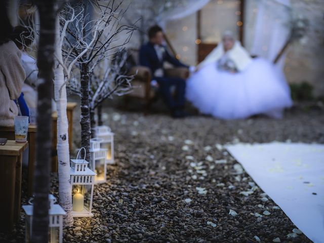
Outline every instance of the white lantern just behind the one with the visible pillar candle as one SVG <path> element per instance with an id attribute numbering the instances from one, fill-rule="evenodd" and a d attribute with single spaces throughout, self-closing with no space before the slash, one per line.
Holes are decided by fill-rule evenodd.
<path id="1" fill-rule="evenodd" d="M 106 182 L 106 154 L 107 149 L 100 148 L 101 138 L 90 139 L 90 169 L 97 173 L 95 176 L 95 183 Z"/>

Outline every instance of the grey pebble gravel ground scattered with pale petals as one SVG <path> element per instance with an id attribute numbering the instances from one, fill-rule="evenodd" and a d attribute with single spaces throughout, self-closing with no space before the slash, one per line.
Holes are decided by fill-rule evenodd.
<path id="1" fill-rule="evenodd" d="M 108 182 L 95 186 L 95 217 L 75 219 L 73 227 L 64 229 L 64 242 L 272 242 L 277 237 L 281 242 L 311 242 L 303 234 L 288 238 L 297 227 L 271 198 L 262 200 L 263 191 L 217 144 L 324 143 L 322 106 L 299 104 L 282 120 L 172 119 L 159 112 L 143 116 L 116 108 L 104 112 L 105 125 L 115 132 L 117 164 L 108 167 Z M 55 175 L 52 183 L 55 191 Z M 249 196 L 239 193 L 252 188 Z M 23 194 L 24 203 L 26 199 Z M 23 220 L 22 214 L 13 233 L 0 234 L 0 241 L 22 242 Z"/>

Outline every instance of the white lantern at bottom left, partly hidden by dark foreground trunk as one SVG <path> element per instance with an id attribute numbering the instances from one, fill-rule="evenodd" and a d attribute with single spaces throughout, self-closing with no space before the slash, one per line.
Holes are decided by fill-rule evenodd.
<path id="1" fill-rule="evenodd" d="M 49 224 L 49 242 L 50 243 L 62 243 L 63 242 L 63 216 L 65 211 L 62 207 L 56 203 L 56 198 L 52 194 L 49 195 L 50 200 L 50 224 Z M 30 203 L 30 201 L 29 201 Z M 31 203 L 30 203 L 31 204 Z M 33 205 L 24 205 L 22 209 L 26 214 L 26 242 L 31 240 L 32 232 L 32 211 Z"/>

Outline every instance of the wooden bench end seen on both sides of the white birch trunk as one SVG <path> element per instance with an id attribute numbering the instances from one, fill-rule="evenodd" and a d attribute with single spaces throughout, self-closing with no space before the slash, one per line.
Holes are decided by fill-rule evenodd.
<path id="1" fill-rule="evenodd" d="M 77 103 L 75 102 L 67 102 L 66 105 L 66 114 L 67 114 L 67 120 L 68 120 L 68 134 L 69 134 L 69 149 L 72 150 L 72 134 L 73 134 L 73 110 Z M 56 150 L 56 144 L 57 144 L 57 113 L 56 111 L 52 113 L 52 147 L 53 151 Z M 55 156 L 52 156 L 52 172 L 58 171 L 58 161 L 57 161 L 57 152 Z"/>

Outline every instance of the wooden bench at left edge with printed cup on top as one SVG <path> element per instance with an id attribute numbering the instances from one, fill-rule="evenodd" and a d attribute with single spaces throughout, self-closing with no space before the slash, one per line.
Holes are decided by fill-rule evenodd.
<path id="1" fill-rule="evenodd" d="M 8 140 L 0 145 L 0 231 L 11 230 L 20 219 L 22 154 L 28 142 Z"/>

